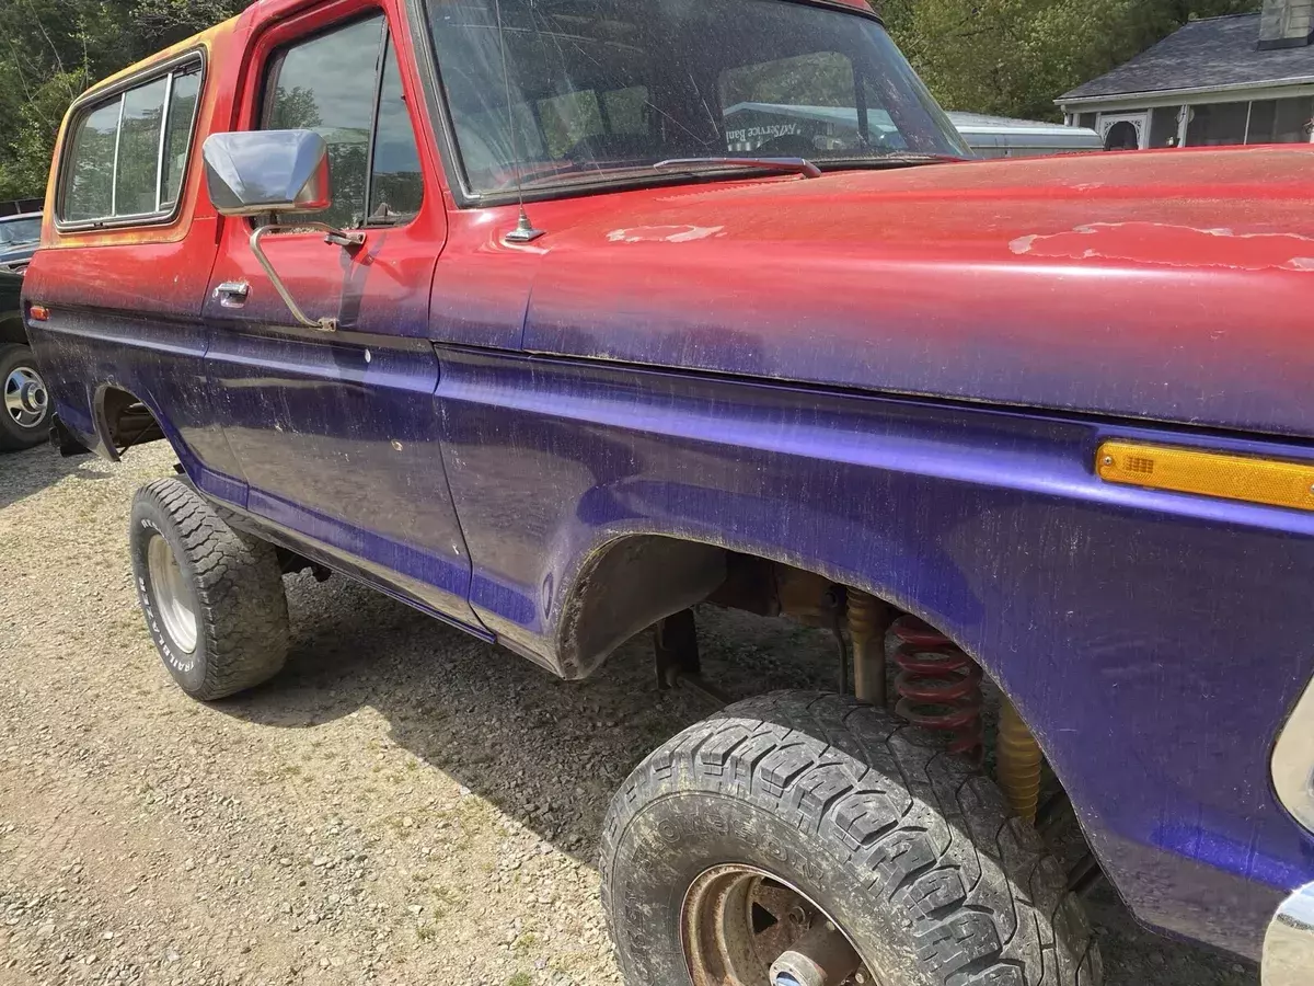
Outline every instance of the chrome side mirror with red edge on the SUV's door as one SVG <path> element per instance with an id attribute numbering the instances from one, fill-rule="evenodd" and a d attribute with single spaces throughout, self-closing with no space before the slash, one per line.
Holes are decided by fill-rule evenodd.
<path id="1" fill-rule="evenodd" d="M 210 134 L 201 155 L 221 216 L 319 212 L 332 204 L 328 145 L 314 130 Z"/>

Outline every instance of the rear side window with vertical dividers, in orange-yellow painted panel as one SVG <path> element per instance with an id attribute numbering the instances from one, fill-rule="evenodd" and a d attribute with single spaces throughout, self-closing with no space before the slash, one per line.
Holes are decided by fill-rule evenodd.
<path id="1" fill-rule="evenodd" d="M 201 91 L 201 63 L 134 85 L 79 114 L 66 151 L 62 222 L 167 218 L 177 202 Z"/>

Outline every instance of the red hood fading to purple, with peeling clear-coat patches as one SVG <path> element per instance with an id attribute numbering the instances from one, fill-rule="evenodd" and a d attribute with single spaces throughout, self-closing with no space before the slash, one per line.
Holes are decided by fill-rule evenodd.
<path id="1" fill-rule="evenodd" d="M 1314 435 L 1314 147 L 532 206 L 540 352 Z"/>

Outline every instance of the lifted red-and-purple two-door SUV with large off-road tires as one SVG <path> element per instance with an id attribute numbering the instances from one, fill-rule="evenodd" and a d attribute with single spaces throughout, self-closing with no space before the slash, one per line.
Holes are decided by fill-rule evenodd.
<path id="1" fill-rule="evenodd" d="M 836 634 L 616 795 L 632 986 L 1095 986 L 1101 868 L 1309 982 L 1314 149 L 967 155 L 859 0 L 264 0 L 75 103 L 24 304 L 67 451 L 177 454 L 129 551 L 198 699 L 311 564 L 570 680 Z"/>

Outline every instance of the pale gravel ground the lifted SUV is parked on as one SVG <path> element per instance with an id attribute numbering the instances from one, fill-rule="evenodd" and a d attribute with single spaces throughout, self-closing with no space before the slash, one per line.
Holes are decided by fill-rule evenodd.
<path id="1" fill-rule="evenodd" d="M 171 463 L 0 456 L 0 983 L 619 982 L 602 815 L 707 706 L 658 694 L 637 643 L 569 685 L 307 576 L 286 580 L 286 672 L 194 703 L 125 551 L 133 490 Z M 807 660 L 824 636 L 699 622 L 732 693 L 827 684 Z M 1257 982 L 1141 931 L 1108 887 L 1088 907 L 1109 986 Z"/>

